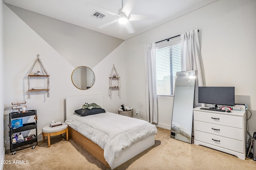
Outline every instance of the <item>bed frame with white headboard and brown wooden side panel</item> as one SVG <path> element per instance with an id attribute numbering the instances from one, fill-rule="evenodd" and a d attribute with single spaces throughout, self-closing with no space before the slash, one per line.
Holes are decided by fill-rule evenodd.
<path id="1" fill-rule="evenodd" d="M 79 109 L 83 103 L 96 103 L 103 107 L 103 96 L 102 95 L 90 95 L 90 96 L 72 96 L 66 97 L 66 117 L 74 114 L 74 110 Z M 104 107 L 103 107 L 104 108 Z M 108 168 L 114 169 L 122 163 L 126 162 L 130 158 L 136 156 L 140 152 L 148 149 L 149 147 L 155 144 L 154 135 L 138 141 L 132 146 L 122 150 L 122 153 L 115 158 L 112 165 L 109 165 L 104 158 L 104 150 L 99 147 L 96 143 L 92 142 L 90 139 L 84 137 L 84 135 L 80 134 L 78 131 L 68 127 L 68 135 L 74 141 L 76 141 L 79 145 L 81 145 L 84 149 L 90 152 L 93 156 L 95 156 L 100 162 L 104 165 L 108 166 Z"/>

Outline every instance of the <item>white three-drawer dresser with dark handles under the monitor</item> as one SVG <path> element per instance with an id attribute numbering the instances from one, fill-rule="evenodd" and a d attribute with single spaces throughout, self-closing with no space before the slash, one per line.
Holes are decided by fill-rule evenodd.
<path id="1" fill-rule="evenodd" d="M 233 154 L 245 160 L 245 111 L 232 110 L 227 113 L 200 108 L 193 109 L 194 144 Z"/>

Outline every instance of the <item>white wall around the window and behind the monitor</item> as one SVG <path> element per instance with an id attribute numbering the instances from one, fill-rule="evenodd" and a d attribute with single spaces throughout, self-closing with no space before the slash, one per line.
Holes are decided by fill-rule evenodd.
<path id="1" fill-rule="evenodd" d="M 235 86 L 235 102 L 248 104 L 252 111 L 248 121 L 252 135 L 256 131 L 255 9 L 255 0 L 218 0 L 126 40 L 127 103 L 142 109 L 142 116 L 146 117 L 144 45 L 197 28 L 204 84 Z M 170 123 L 166 120 L 172 117 L 172 99 L 167 105 L 166 98 L 158 97 L 160 127 L 166 127 Z"/>

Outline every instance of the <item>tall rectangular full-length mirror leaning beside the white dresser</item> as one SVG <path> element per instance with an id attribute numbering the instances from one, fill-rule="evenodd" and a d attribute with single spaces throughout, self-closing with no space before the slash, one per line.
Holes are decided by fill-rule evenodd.
<path id="1" fill-rule="evenodd" d="M 172 110 L 171 138 L 192 142 L 196 71 L 177 72 Z"/>

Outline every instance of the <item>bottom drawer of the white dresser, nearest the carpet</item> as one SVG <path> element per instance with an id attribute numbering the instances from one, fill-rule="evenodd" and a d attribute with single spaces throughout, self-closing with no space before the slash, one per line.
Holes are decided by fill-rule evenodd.
<path id="1" fill-rule="evenodd" d="M 194 131 L 194 140 L 222 147 L 225 149 L 233 150 L 236 152 L 244 153 L 244 142 L 226 137 Z"/>

